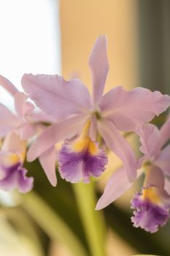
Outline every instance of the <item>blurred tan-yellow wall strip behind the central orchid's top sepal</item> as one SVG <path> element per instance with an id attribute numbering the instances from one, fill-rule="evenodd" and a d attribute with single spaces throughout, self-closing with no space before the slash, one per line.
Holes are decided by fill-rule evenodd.
<path id="1" fill-rule="evenodd" d="M 88 57 L 100 34 L 108 37 L 107 89 L 139 85 L 136 0 L 61 0 L 62 70 L 90 88 Z"/>

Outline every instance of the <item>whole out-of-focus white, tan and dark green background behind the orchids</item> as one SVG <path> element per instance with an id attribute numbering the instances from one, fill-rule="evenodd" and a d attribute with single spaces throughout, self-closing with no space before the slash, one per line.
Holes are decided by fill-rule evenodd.
<path id="1" fill-rule="evenodd" d="M 170 94 L 169 0 L 0 0 L 0 73 L 20 90 L 25 72 L 79 77 L 91 90 L 88 58 L 100 34 L 108 37 L 106 91 L 123 85 L 125 89 L 144 86 Z M 13 108 L 12 98 L 3 89 L 0 102 Z M 95 184 L 96 198 L 121 164 L 113 154 L 109 159 L 107 172 Z M 92 210 L 94 198 L 91 218 L 85 222 L 75 196 L 79 187 L 58 177 L 58 186 L 53 188 L 39 162 L 26 163 L 26 167 L 35 178 L 34 192 L 24 197 L 0 192 L 0 255 L 95 256 L 88 239 L 97 246 L 97 225 L 104 222 L 101 243 L 106 255 L 170 255 L 170 225 L 152 235 L 131 225 L 130 200 L 140 184 L 99 217 Z M 95 218 L 96 233 L 94 230 L 90 236 L 84 226 L 93 225 Z M 80 246 L 81 253 L 73 252 L 73 246 Z"/>

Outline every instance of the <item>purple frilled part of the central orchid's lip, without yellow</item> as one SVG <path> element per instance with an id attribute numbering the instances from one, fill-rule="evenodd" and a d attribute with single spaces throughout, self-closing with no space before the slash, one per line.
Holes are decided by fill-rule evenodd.
<path id="1" fill-rule="evenodd" d="M 69 144 L 63 143 L 58 153 L 59 173 L 62 178 L 72 183 L 88 183 L 90 176 L 101 176 L 107 162 L 107 156 L 101 148 L 97 155 L 92 155 L 88 151 L 72 152 Z"/>

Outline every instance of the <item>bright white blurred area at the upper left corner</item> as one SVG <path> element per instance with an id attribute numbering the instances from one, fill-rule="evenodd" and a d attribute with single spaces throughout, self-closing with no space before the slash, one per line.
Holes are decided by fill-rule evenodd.
<path id="1" fill-rule="evenodd" d="M 0 74 L 22 90 L 23 73 L 61 74 L 57 0 L 0 0 Z M 0 86 L 0 102 L 12 98 Z"/>

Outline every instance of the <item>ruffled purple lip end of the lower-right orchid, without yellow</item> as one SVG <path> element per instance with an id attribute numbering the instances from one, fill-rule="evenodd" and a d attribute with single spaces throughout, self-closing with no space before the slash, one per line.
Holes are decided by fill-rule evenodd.
<path id="1" fill-rule="evenodd" d="M 141 199 L 142 193 L 136 193 L 131 200 L 131 208 L 136 209 L 131 221 L 134 227 L 141 227 L 147 232 L 155 233 L 159 227 L 169 221 L 169 207 L 158 206 L 149 199 Z"/>

